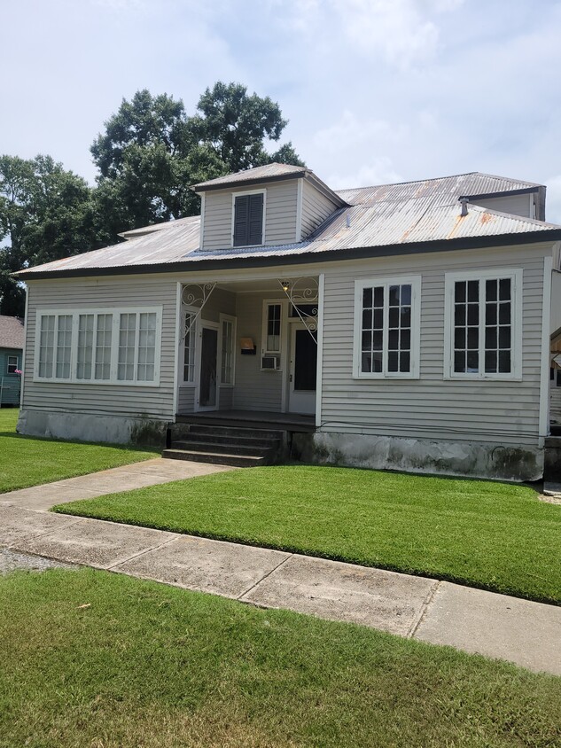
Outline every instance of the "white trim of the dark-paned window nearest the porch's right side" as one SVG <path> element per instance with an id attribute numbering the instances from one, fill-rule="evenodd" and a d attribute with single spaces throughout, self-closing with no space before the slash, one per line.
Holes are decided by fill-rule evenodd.
<path id="1" fill-rule="evenodd" d="M 382 347 L 383 370 L 362 371 L 362 292 L 365 288 L 391 285 L 411 286 L 411 349 L 410 371 L 387 371 L 387 320 L 384 320 L 384 343 Z M 386 294 L 385 294 L 386 298 Z M 385 307 L 386 309 L 386 307 Z M 420 378 L 421 349 L 421 276 L 397 276 L 360 278 L 355 280 L 355 329 L 353 342 L 354 379 L 418 379 Z"/>

